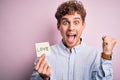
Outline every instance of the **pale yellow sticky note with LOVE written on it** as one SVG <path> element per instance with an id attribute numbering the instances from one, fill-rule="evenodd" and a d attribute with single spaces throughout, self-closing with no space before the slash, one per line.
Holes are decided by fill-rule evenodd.
<path id="1" fill-rule="evenodd" d="M 37 57 L 40 57 L 42 54 L 46 56 L 50 55 L 50 45 L 49 42 L 35 43 Z"/>

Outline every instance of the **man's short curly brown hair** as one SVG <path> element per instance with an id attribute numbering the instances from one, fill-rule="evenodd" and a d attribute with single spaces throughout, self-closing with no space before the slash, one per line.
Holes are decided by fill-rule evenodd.
<path id="1" fill-rule="evenodd" d="M 84 9 L 84 6 L 82 2 L 76 1 L 76 0 L 70 0 L 62 3 L 55 13 L 55 17 L 57 19 L 57 22 L 60 23 L 61 18 L 65 16 L 66 14 L 72 15 L 75 12 L 80 14 L 82 21 L 85 21 L 86 17 L 86 10 Z"/>

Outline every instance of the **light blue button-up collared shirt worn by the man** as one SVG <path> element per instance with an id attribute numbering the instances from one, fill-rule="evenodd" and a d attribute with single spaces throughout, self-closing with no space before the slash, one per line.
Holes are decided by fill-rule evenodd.
<path id="1" fill-rule="evenodd" d="M 71 52 L 62 41 L 51 46 L 46 57 L 51 66 L 50 80 L 112 80 L 112 62 L 101 58 L 101 52 L 83 42 Z M 31 80 L 42 80 L 33 71 Z"/>

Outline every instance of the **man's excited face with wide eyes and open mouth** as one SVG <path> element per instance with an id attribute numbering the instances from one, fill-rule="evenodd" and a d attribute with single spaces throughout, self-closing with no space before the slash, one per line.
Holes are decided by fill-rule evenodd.
<path id="1" fill-rule="evenodd" d="M 80 36 L 85 27 L 79 14 L 65 15 L 62 17 L 58 30 L 60 31 L 63 42 L 68 48 L 72 48 L 80 44 Z"/>

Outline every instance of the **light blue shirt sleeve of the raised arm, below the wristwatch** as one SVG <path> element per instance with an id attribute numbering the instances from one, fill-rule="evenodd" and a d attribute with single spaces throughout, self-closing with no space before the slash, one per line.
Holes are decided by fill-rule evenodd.
<path id="1" fill-rule="evenodd" d="M 92 68 L 92 80 L 112 80 L 112 60 L 105 60 L 101 58 L 101 54 L 96 57 L 94 66 Z"/>

